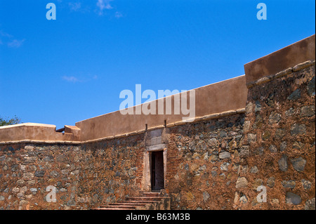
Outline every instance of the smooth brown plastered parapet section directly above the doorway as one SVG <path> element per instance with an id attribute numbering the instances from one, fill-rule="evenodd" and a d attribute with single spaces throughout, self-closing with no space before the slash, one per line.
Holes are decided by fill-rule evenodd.
<path id="1" fill-rule="evenodd" d="M 246 106 L 247 89 L 244 76 L 196 88 L 194 91 L 195 105 L 190 105 L 190 96 L 188 92 L 176 95 L 187 94 L 187 108 L 195 107 L 193 109 L 195 110 L 196 119 L 209 114 L 244 109 Z M 145 131 L 146 124 L 147 129 L 150 130 L 155 127 L 161 128 L 164 127 L 164 125 L 169 126 L 175 122 L 181 122 L 187 119 L 186 117 L 188 117 L 188 114 L 183 114 L 182 110 L 180 110 L 180 114 L 174 113 L 174 99 L 176 95 L 164 98 L 164 108 L 166 108 L 166 101 L 171 99 L 172 114 L 158 114 L 159 100 L 154 100 L 154 104 L 156 105 L 155 114 L 145 115 L 142 113 L 123 115 L 121 112 L 116 111 L 99 117 L 79 121 L 76 123 L 76 126 L 81 130 L 81 140 L 95 140 L 131 132 L 136 133 L 137 131 Z M 143 105 L 138 105 L 136 107 L 141 106 Z M 138 110 L 136 107 L 133 107 L 134 112 Z"/>

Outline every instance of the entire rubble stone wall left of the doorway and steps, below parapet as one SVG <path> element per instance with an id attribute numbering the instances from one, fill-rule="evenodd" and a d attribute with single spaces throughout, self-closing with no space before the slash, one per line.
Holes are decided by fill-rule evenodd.
<path id="1" fill-rule="evenodd" d="M 138 195 L 142 135 L 87 145 L 0 146 L 0 209 L 89 209 Z M 46 187 L 56 187 L 47 202 Z"/>

